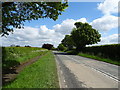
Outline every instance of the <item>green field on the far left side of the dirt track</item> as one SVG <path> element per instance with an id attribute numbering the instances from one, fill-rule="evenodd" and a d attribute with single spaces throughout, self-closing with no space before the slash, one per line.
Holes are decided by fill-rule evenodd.
<path id="1" fill-rule="evenodd" d="M 38 51 L 39 50 L 39 51 Z M 36 56 L 44 55 L 47 51 L 35 47 L 3 47 L 2 48 L 2 67 L 8 69 L 26 62 Z"/>

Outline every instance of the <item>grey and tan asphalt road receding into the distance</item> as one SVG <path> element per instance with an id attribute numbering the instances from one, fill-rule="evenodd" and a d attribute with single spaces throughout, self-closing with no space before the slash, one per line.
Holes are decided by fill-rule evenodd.
<path id="1" fill-rule="evenodd" d="M 118 88 L 118 66 L 53 51 L 60 88 Z"/>

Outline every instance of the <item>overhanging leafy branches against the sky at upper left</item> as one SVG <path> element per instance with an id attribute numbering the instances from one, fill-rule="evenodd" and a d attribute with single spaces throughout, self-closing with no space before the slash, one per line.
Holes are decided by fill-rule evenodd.
<path id="1" fill-rule="evenodd" d="M 13 28 L 22 28 L 26 20 L 56 20 L 67 7 L 67 2 L 2 2 L 1 34 L 9 35 Z"/>

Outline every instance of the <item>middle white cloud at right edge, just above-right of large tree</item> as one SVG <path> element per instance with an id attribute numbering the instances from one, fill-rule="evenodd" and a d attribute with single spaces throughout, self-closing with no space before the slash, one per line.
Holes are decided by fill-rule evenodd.
<path id="1" fill-rule="evenodd" d="M 108 31 L 118 27 L 118 17 L 113 15 L 105 15 L 101 18 L 93 20 L 90 24 L 93 28 L 99 31 Z"/>

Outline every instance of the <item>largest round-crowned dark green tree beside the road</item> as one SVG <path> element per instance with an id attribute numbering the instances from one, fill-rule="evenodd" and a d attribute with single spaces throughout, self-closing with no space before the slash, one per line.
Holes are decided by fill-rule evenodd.
<path id="1" fill-rule="evenodd" d="M 76 28 L 72 30 L 71 37 L 77 50 L 82 50 L 86 45 L 100 42 L 101 35 L 88 23 L 76 22 L 74 25 Z"/>

